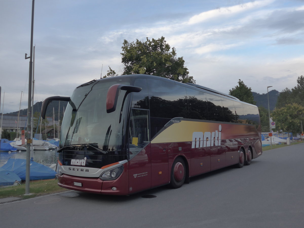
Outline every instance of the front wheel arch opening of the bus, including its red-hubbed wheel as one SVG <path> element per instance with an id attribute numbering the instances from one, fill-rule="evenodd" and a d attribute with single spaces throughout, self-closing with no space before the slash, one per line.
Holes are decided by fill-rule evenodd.
<path id="1" fill-rule="evenodd" d="M 187 182 L 187 176 L 189 178 L 188 170 L 188 163 L 185 161 L 184 157 L 178 156 L 175 158 L 171 167 L 170 187 L 180 188 L 185 182 Z"/>

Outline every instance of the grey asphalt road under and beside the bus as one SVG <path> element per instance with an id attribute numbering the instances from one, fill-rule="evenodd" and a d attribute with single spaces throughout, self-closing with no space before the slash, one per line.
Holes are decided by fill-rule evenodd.
<path id="1" fill-rule="evenodd" d="M 0 205 L 0 227 L 304 227 L 304 143 L 130 196 L 65 192 Z M 143 198 L 143 196 L 155 196 Z"/>

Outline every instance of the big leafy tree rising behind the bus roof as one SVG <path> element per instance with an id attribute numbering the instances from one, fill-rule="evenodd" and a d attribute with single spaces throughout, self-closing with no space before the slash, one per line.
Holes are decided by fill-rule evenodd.
<path id="1" fill-rule="evenodd" d="M 123 74 L 150 74 L 169 78 L 175 81 L 195 83 L 189 76 L 188 68 L 184 66 L 183 57 L 176 57 L 176 50 L 165 41 L 165 38 L 147 40 L 142 42 L 128 42 L 124 40 L 122 63 Z"/>

